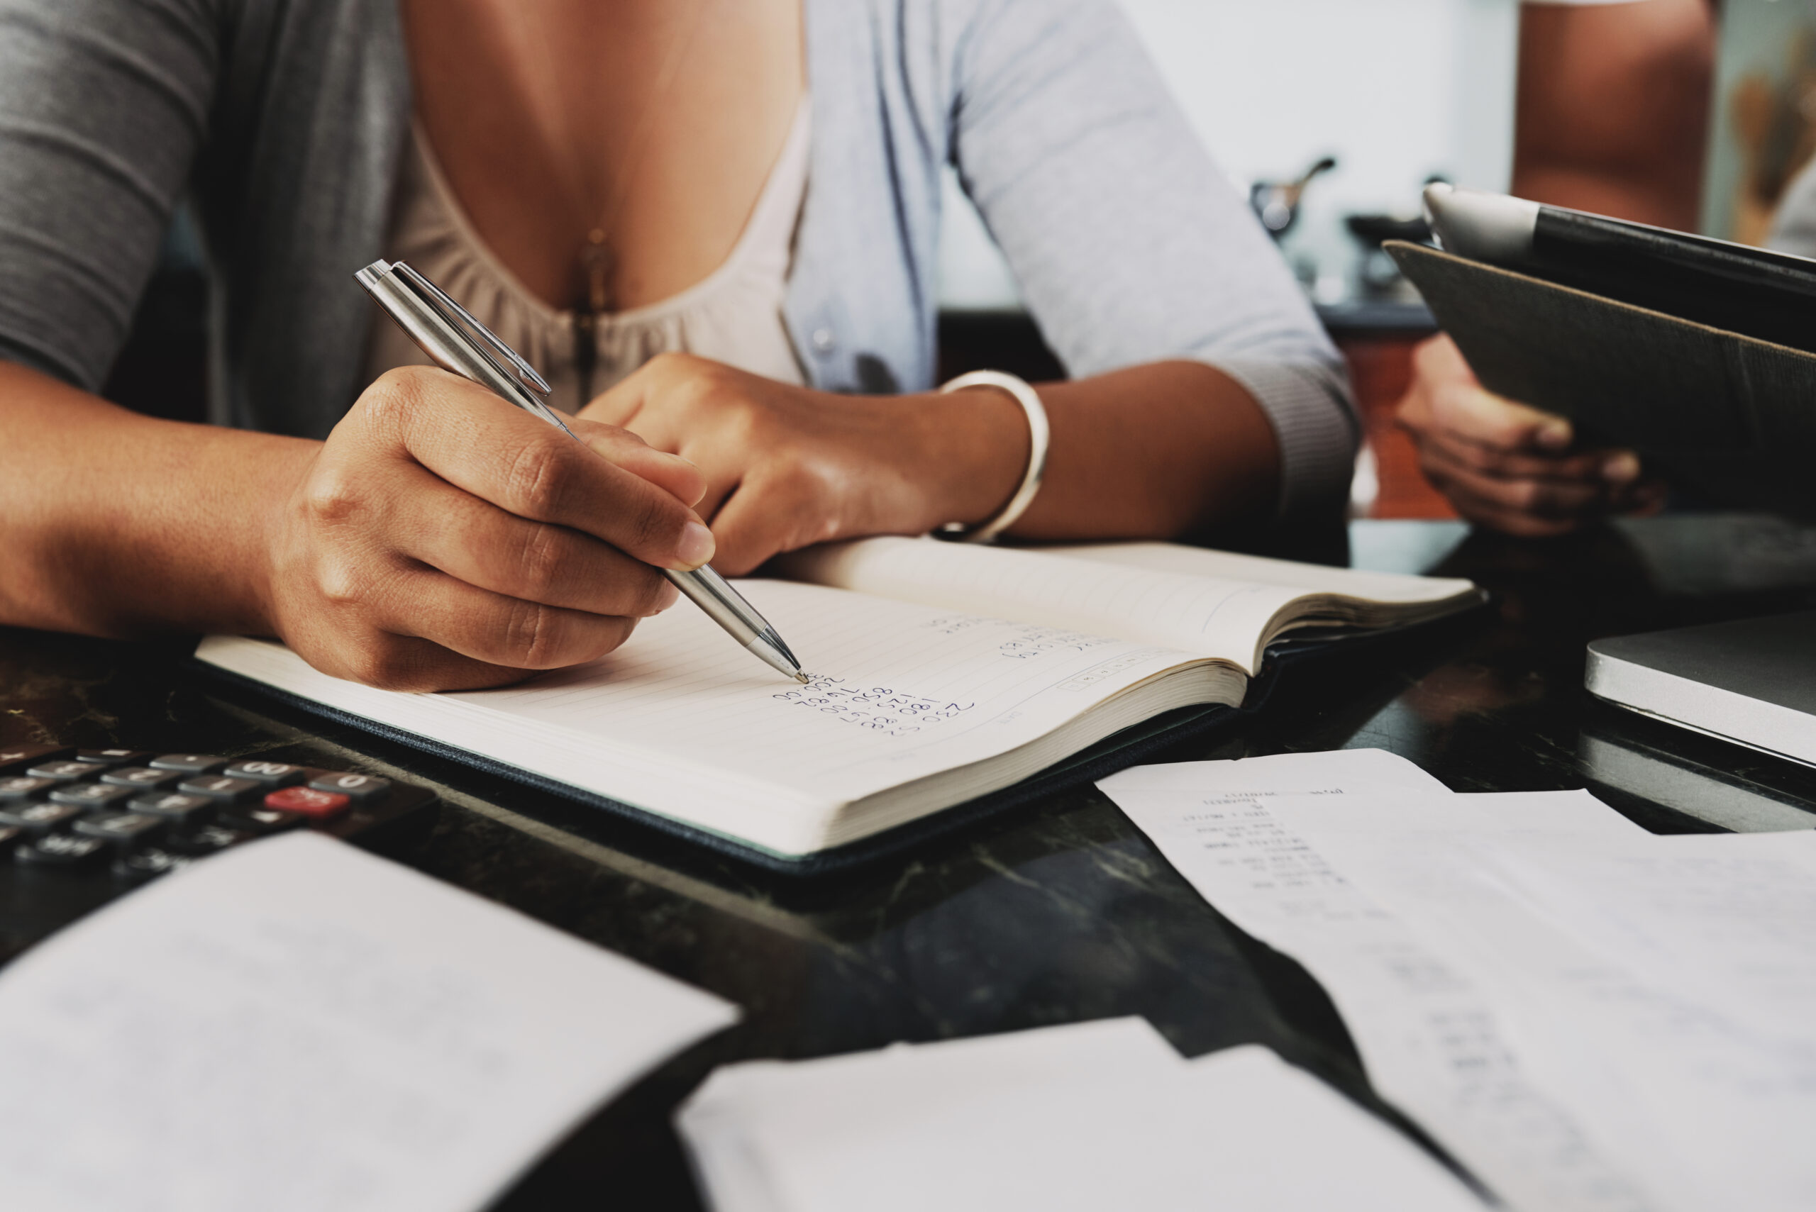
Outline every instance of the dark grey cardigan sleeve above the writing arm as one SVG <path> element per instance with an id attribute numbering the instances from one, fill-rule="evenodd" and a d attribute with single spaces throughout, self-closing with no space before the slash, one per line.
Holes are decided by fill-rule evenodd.
<path id="1" fill-rule="evenodd" d="M 98 390 L 207 129 L 211 0 L 0 0 L 0 357 Z"/>

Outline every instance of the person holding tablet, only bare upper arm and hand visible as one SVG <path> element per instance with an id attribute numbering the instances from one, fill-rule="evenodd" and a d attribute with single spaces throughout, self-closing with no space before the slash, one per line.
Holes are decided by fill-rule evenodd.
<path id="1" fill-rule="evenodd" d="M 1511 192 L 1696 229 L 1709 123 L 1709 0 L 1525 0 Z M 1656 510 L 1665 486 L 1631 450 L 1576 450 L 1571 423 L 1482 388 L 1446 336 L 1413 352 L 1398 423 L 1466 519 L 1556 535 Z"/>

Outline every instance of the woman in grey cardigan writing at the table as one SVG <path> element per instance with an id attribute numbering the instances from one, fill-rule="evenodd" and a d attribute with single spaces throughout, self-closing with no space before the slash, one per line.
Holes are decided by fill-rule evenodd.
<path id="1" fill-rule="evenodd" d="M 944 163 L 1066 383 L 933 381 Z M 94 396 L 173 205 L 220 426 Z M 407 259 L 574 443 L 419 368 Z M 596 659 L 864 533 L 1335 526 L 1335 350 L 1111 0 L 0 0 L 0 622 L 276 635 L 372 684 Z"/>

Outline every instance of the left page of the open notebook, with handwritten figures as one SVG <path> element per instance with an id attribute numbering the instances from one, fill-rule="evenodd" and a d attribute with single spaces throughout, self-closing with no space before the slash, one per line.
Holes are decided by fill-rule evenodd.
<path id="1" fill-rule="evenodd" d="M 781 853 L 819 849 L 843 804 L 1008 753 L 1193 660 L 810 584 L 739 588 L 812 684 L 766 670 L 686 604 L 605 660 L 492 691 L 370 689 L 262 640 L 216 637 L 198 657 Z M 1222 699 L 1202 693 L 1219 680 Z M 1240 693 L 1240 679 L 1206 673 L 1193 700 Z"/>

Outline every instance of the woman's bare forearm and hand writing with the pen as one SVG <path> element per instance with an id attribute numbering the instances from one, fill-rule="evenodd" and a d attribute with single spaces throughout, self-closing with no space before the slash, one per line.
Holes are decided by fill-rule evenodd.
<path id="1" fill-rule="evenodd" d="M 138 417 L 0 363 L 0 622 L 278 635 L 318 668 L 496 686 L 590 660 L 712 537 L 699 474 L 585 445 L 439 370 L 392 372 L 325 443 Z"/>

